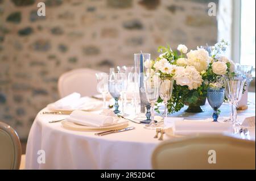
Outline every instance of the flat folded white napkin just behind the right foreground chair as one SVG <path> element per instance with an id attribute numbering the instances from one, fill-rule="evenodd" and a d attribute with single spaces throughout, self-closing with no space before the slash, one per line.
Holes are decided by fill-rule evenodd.
<path id="1" fill-rule="evenodd" d="M 202 121 L 175 121 L 172 130 L 174 134 L 216 134 L 216 133 L 232 133 L 232 124 L 218 122 L 202 122 Z"/>

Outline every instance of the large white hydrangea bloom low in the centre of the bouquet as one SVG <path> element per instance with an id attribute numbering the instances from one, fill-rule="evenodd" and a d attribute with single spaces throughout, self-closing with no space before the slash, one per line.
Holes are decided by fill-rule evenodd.
<path id="1" fill-rule="evenodd" d="M 177 66 L 174 79 L 177 85 L 188 86 L 189 90 L 197 89 L 203 83 L 203 79 L 193 66 Z"/>

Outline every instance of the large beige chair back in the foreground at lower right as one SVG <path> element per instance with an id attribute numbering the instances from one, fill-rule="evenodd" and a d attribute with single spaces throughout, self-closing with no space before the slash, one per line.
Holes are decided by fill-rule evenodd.
<path id="1" fill-rule="evenodd" d="M 152 168 L 255 169 L 255 141 L 226 136 L 164 141 L 152 154 Z"/>

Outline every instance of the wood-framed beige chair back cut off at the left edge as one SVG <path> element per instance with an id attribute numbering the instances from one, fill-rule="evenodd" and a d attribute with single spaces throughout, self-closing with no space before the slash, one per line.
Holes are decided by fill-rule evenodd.
<path id="1" fill-rule="evenodd" d="M 0 122 L 0 170 L 19 169 L 21 155 L 18 135 L 9 125 Z"/>

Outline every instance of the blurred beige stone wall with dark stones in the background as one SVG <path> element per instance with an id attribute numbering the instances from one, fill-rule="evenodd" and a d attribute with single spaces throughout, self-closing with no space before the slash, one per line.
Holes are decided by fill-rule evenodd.
<path id="1" fill-rule="evenodd" d="M 36 15 L 46 3 L 46 17 Z M 65 71 L 108 71 L 159 45 L 217 41 L 205 0 L 0 0 L 0 120 L 26 138 Z"/>

